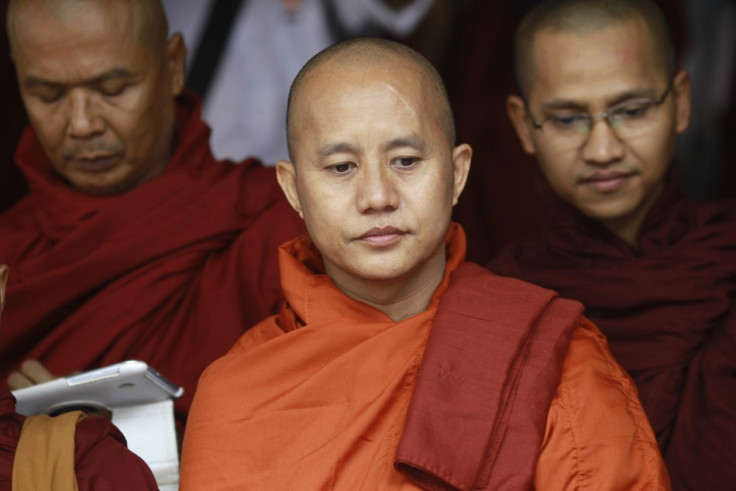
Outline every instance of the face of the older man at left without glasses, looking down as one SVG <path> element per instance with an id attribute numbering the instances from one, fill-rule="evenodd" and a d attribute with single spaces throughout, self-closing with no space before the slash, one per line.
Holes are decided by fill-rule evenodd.
<path id="1" fill-rule="evenodd" d="M 90 194 L 159 175 L 173 140 L 185 48 L 142 42 L 126 2 L 17 16 L 13 57 L 31 124 L 56 171 Z"/>

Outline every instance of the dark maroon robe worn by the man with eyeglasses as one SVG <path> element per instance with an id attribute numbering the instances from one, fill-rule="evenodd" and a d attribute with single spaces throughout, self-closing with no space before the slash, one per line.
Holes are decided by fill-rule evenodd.
<path id="1" fill-rule="evenodd" d="M 733 489 L 736 205 L 694 203 L 669 176 L 636 251 L 541 189 L 543 242 L 490 268 L 583 302 L 636 381 L 675 489 Z"/>

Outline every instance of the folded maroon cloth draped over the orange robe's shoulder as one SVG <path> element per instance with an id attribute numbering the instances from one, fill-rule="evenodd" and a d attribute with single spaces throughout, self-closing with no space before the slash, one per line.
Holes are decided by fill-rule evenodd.
<path id="1" fill-rule="evenodd" d="M 550 290 L 460 265 L 432 322 L 397 468 L 426 489 L 529 489 L 581 313 Z"/>

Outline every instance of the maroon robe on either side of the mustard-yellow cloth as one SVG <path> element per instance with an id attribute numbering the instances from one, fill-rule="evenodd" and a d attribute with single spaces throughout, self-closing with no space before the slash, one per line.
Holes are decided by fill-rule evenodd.
<path id="1" fill-rule="evenodd" d="M 0 389 L 0 490 L 12 489 L 13 463 L 25 418 L 15 412 L 15 398 Z M 80 491 L 156 490 L 145 462 L 125 446 L 125 437 L 108 420 L 85 418 L 74 437 L 74 472 Z M 20 489 L 23 489 L 21 485 Z"/>

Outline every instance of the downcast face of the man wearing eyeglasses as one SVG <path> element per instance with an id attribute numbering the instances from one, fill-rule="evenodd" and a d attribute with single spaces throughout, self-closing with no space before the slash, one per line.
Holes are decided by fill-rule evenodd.
<path id="1" fill-rule="evenodd" d="M 635 100 L 659 100 L 669 76 L 636 21 L 582 35 L 542 31 L 534 57 L 536 77 L 527 106 L 518 97 L 509 99 L 524 149 L 536 155 L 555 192 L 583 214 L 614 231 L 641 223 L 662 188 L 675 137 L 688 125 L 687 74 L 675 76 L 671 92 L 636 130 L 631 125 L 629 131 L 612 128 L 598 118 L 581 138 L 568 141 L 555 135 L 549 121 L 542 130 L 533 128 L 529 115 L 540 122 L 573 113 L 604 113 Z"/>

